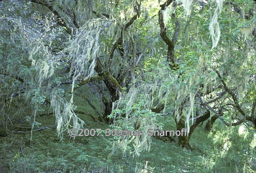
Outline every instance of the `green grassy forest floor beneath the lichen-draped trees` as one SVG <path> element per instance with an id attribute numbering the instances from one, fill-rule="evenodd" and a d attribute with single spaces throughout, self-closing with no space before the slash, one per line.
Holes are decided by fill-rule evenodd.
<path id="1" fill-rule="evenodd" d="M 50 119 L 41 117 L 48 125 L 54 122 Z M 162 121 L 164 129 L 175 129 L 170 118 Z M 86 125 L 109 128 L 93 121 L 87 121 Z M 200 125 L 191 137 L 191 151 L 179 147 L 176 140 L 169 143 L 152 137 L 150 151 L 140 153 L 139 157 L 130 153 L 124 156 L 121 149 L 113 148 L 111 137 L 70 139 L 66 134 L 60 141 L 56 130 L 48 129 L 33 132 L 30 143 L 30 132 L 8 133 L 7 137 L 0 137 L 0 172 L 256 173 L 256 135 L 237 127 L 227 130 L 218 122 L 213 129 L 206 132 L 204 124 Z"/>

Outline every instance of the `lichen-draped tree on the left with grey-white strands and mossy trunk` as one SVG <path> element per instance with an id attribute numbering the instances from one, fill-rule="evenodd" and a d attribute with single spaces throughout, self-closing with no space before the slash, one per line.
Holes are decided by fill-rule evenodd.
<path id="1" fill-rule="evenodd" d="M 122 87 L 127 86 L 127 89 L 129 89 L 135 64 L 139 62 L 136 51 L 130 48 L 130 45 L 135 47 L 133 36 L 126 33 L 132 33 L 130 26 L 140 16 L 140 2 L 131 1 L 132 4 L 128 4 L 125 8 L 124 4 L 118 1 L 113 4 L 106 1 L 97 3 L 88 1 L 84 3 L 84 1 L 78 0 L 66 2 L 32 0 L 31 2 L 33 3 L 26 4 L 23 1 L 20 5 L 25 6 L 26 4 L 32 8 L 35 3 L 37 4 L 35 8 L 42 8 L 43 14 L 49 14 L 49 16 L 54 14 L 50 21 L 48 16 L 44 21 L 32 15 L 34 20 L 40 20 L 39 23 L 48 23 L 43 26 L 45 31 L 42 31 L 42 33 L 37 35 L 34 33 L 33 35 L 33 31 L 29 31 L 28 33 L 31 34 L 27 34 L 28 38 L 23 42 L 26 45 L 22 45 L 19 52 L 22 55 L 27 54 L 29 57 L 25 59 L 28 62 L 27 68 L 34 69 L 34 73 L 19 74 L 18 72 L 15 74 L 20 79 L 23 75 L 33 76 L 33 80 L 24 81 L 22 79 L 20 80 L 21 83 L 18 84 L 18 88 L 26 82 L 31 84 L 31 88 L 23 87 L 25 90 L 23 93 L 27 99 L 31 100 L 29 104 L 33 105 L 33 114 L 36 115 L 38 108 L 41 109 L 45 104 L 50 104 L 53 110 L 52 114 L 56 116 L 59 134 L 69 126 L 71 119 L 73 119 L 74 126 L 79 127 L 77 122 L 80 121 L 83 125 L 83 121 L 75 114 L 79 111 L 74 109 L 74 91 L 89 82 L 103 81 L 104 83 L 99 84 L 99 86 L 106 87 L 110 97 L 101 95 L 105 115 L 99 120 L 106 122 L 107 115 L 112 110 L 112 102 L 119 99 L 120 92 L 123 91 Z M 104 3 L 107 6 L 104 6 Z M 19 3 L 17 2 L 17 4 Z M 133 16 L 126 15 L 130 12 Z M 6 17 L 2 20 L 10 20 L 10 18 Z M 61 26 L 57 27 L 57 30 L 53 28 L 57 25 L 51 24 L 54 20 Z M 22 27 L 17 27 L 16 22 L 16 18 L 14 18 L 11 25 L 17 28 L 17 37 L 20 37 L 24 33 Z M 33 22 L 24 28 L 37 25 L 36 21 Z M 23 25 L 22 22 L 19 22 L 19 24 Z M 50 33 L 50 30 L 52 33 Z M 66 33 L 63 33 L 64 31 Z M 9 33 L 8 30 L 6 32 Z M 50 34 L 50 37 L 48 34 Z M 68 39 L 67 34 L 70 35 Z M 61 37 L 61 35 L 63 37 L 60 38 L 60 41 L 54 40 L 54 38 Z M 38 40 L 32 41 L 33 37 L 37 37 Z M 39 39 L 40 37 L 41 39 Z M 61 41 L 66 41 L 67 45 L 61 43 Z M 11 41 L 8 40 L 7 42 Z M 111 44 L 111 42 L 114 43 Z M 17 44 L 17 41 L 13 41 L 13 43 Z M 3 49 L 8 49 L 4 44 L 2 45 Z M 23 47 L 31 49 L 23 49 Z M 120 57 L 116 56 L 116 49 L 118 49 Z M 8 58 L 7 54 L 6 52 L 6 55 L 3 56 L 4 59 Z M 29 65 L 30 61 L 32 61 L 32 66 Z M 116 66 L 119 67 L 116 68 Z M 12 76 L 10 71 L 17 71 L 17 68 L 17 66 L 13 66 L 12 69 L 2 67 L 2 75 Z M 67 84 L 71 84 L 69 91 L 63 87 Z M 10 95 L 18 96 L 16 93 L 7 95 L 7 98 L 11 98 Z M 71 99 L 67 99 L 67 95 L 71 95 Z M 95 108 L 93 105 L 91 107 Z"/>

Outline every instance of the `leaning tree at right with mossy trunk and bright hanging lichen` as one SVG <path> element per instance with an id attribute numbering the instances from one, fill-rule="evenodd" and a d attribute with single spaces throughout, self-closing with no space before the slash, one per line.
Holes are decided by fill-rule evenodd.
<path id="1" fill-rule="evenodd" d="M 163 5 L 161 5 L 161 10 L 166 10 L 166 8 L 172 3 L 172 0 L 167 0 Z M 250 124 L 255 124 L 255 115 L 254 115 L 254 109 L 255 109 L 255 101 L 253 99 L 250 99 L 249 103 L 251 105 L 249 106 L 249 110 L 251 112 L 250 115 L 246 115 L 246 113 L 243 110 L 242 102 L 240 100 L 248 100 L 246 96 L 248 96 L 248 93 L 246 93 L 246 84 L 249 82 L 251 84 L 251 79 L 254 77 L 254 70 L 253 68 L 248 68 L 249 66 L 254 66 L 254 61 L 251 60 L 252 56 L 255 55 L 255 47 L 252 45 L 252 42 L 255 42 L 255 27 L 253 25 L 253 13 L 252 11 L 255 9 L 254 2 L 248 1 L 246 3 L 250 4 L 248 6 L 248 14 L 241 15 L 240 8 L 238 8 L 236 2 L 225 2 L 219 1 L 217 3 L 217 7 L 215 8 L 215 13 L 213 14 L 212 18 L 209 18 L 206 11 L 210 11 L 209 8 L 206 6 L 207 2 L 198 1 L 198 4 L 184 4 L 184 9 L 186 8 L 190 11 L 191 14 L 189 18 L 186 20 L 185 28 L 184 28 L 184 39 L 185 44 L 183 44 L 183 48 L 186 47 L 186 44 L 188 45 L 189 49 L 182 49 L 187 52 L 187 55 L 185 54 L 184 57 L 190 56 L 188 58 L 188 61 L 186 59 L 178 59 L 180 57 L 176 57 L 178 61 L 180 62 L 180 65 L 175 62 L 174 57 L 174 47 L 177 40 L 177 34 L 179 29 L 179 25 L 176 23 L 176 30 L 173 32 L 173 39 L 169 39 L 169 37 L 166 34 L 166 27 L 164 23 L 164 15 L 163 12 L 159 11 L 159 25 L 160 25 L 160 35 L 162 39 L 167 44 L 167 61 L 171 62 L 170 67 L 177 71 L 176 75 L 178 76 L 178 79 L 182 79 L 182 82 L 179 83 L 178 91 L 176 90 L 176 93 L 178 95 L 174 97 L 172 102 L 178 103 L 175 104 L 175 107 L 173 108 L 173 114 L 174 119 L 177 125 L 177 129 L 182 129 L 187 123 L 187 127 L 190 127 L 190 133 L 188 138 L 186 137 L 179 137 L 179 143 L 182 146 L 185 146 L 187 148 L 189 147 L 188 140 L 194 132 L 194 129 L 197 127 L 198 124 L 206 121 L 208 118 L 211 117 L 211 113 L 213 113 L 213 117 L 211 120 L 208 120 L 207 129 L 210 129 L 214 121 L 219 118 L 221 121 L 223 121 L 224 124 L 227 126 L 230 125 L 239 125 L 241 123 L 250 122 Z M 209 6 L 212 6 L 212 2 L 208 2 Z M 239 3 L 239 2 L 238 2 Z M 223 7 L 223 5 L 226 5 L 226 7 Z M 173 7 L 176 8 L 177 4 L 173 3 Z M 208 7 L 209 7 L 208 6 Z M 197 8 L 197 9 L 195 9 Z M 224 8 L 224 9 L 222 9 Z M 198 10 L 199 9 L 199 10 Z M 245 34 L 246 42 L 242 39 L 243 33 L 239 33 L 239 28 L 241 27 L 241 24 L 236 23 L 237 20 L 239 20 L 237 14 L 231 14 L 228 17 L 220 16 L 221 10 L 225 10 L 225 12 L 230 13 L 229 11 L 234 9 L 237 13 L 239 13 L 244 19 L 246 19 L 246 23 L 248 26 L 248 33 Z M 178 11 L 178 10 L 176 10 Z M 209 41 L 206 41 L 204 38 L 206 38 L 205 33 L 206 28 L 204 26 L 198 27 L 194 26 L 196 30 L 193 30 L 190 26 L 190 23 L 196 24 L 194 20 L 198 20 L 198 13 L 201 13 L 200 17 L 202 20 L 210 20 L 209 22 L 209 32 L 212 37 L 212 49 L 210 48 Z M 173 16 L 177 16 L 176 14 L 173 14 Z M 220 22 L 218 22 L 218 16 Z M 176 19 L 177 20 L 177 19 Z M 199 18 L 200 20 L 200 18 Z M 175 18 L 174 18 L 175 21 Z M 247 25 L 244 24 L 244 21 L 241 22 L 243 27 L 246 28 Z M 197 24 L 199 25 L 205 25 L 204 21 L 200 21 Z M 220 27 L 221 25 L 222 27 Z M 231 27 L 228 32 L 225 32 L 225 27 Z M 249 29 L 250 28 L 250 29 Z M 202 31 L 198 31 L 198 30 Z M 221 37 L 221 30 L 222 31 L 222 37 Z M 243 28 L 241 29 L 243 31 Z M 186 33 L 187 32 L 187 33 Z M 202 34 L 200 34 L 202 33 Z M 248 34 L 248 35 L 247 35 Z M 188 36 L 187 36 L 188 35 Z M 249 36 L 250 35 L 250 36 Z M 186 43 L 186 39 L 190 39 Z M 201 37 L 201 38 L 200 38 Z M 234 39 L 235 37 L 235 39 Z M 191 43 L 190 41 L 193 41 L 194 43 Z M 217 46 L 218 45 L 218 46 Z M 213 49 L 215 48 L 215 49 Z M 199 52 L 198 52 L 199 51 Z M 239 52 L 240 51 L 240 52 Z M 201 55 L 199 55 L 198 53 Z M 219 53 L 222 52 L 222 53 Z M 231 57 L 232 55 L 232 57 Z M 211 58 L 214 56 L 214 58 Z M 199 58 L 198 58 L 199 57 Z M 226 58 L 223 61 L 223 58 Z M 186 62 L 187 61 L 187 62 Z M 187 66 L 186 63 L 190 63 L 189 66 Z M 196 66 L 196 63 L 198 63 L 199 66 Z M 180 67 L 182 65 L 182 68 Z M 191 69 L 191 65 L 192 68 Z M 210 65 L 210 66 L 209 66 Z M 228 66 L 236 66 L 236 71 L 228 71 Z M 185 67 L 185 68 L 184 68 Z M 246 69 L 246 70 L 245 70 Z M 252 70 L 251 73 L 248 73 L 248 69 Z M 222 75 L 219 73 L 218 70 L 222 71 Z M 245 71 L 244 71 L 245 70 Z M 190 74 L 189 74 L 190 73 Z M 231 82 L 231 87 L 228 87 L 226 82 L 223 80 L 222 76 L 226 76 L 226 80 Z M 242 77 L 241 77 L 242 76 Z M 207 79 L 208 78 L 208 79 Z M 242 80 L 242 81 L 239 81 Z M 213 85 L 212 85 L 213 83 Z M 179 88 L 181 85 L 184 84 L 185 88 Z M 234 86 L 237 85 L 237 86 Z M 189 86 L 189 87 L 188 87 Z M 240 88 L 241 87 L 241 88 Z M 187 93 L 186 93 L 187 90 Z M 183 93 L 179 92 L 182 91 Z M 229 96 L 225 97 L 226 94 L 229 94 Z M 182 96 L 181 96 L 182 95 Z M 212 98 L 214 95 L 217 97 L 214 99 L 207 100 L 205 102 L 202 99 L 202 96 L 205 98 Z M 222 99 L 220 101 L 220 99 Z M 231 99 L 232 103 L 230 101 L 227 101 Z M 195 102 L 196 101 L 196 102 Z M 210 107 L 209 104 L 214 104 L 213 107 Z M 232 105 L 232 106 L 231 106 Z M 205 110 L 204 113 L 201 113 L 201 107 L 204 107 Z M 231 107 L 229 107 L 231 106 Z M 245 106 L 245 105 L 244 105 Z M 227 108 L 228 107 L 228 108 Z M 243 107 L 243 108 L 242 108 Z M 248 107 L 245 106 L 245 107 Z M 196 108 L 195 111 L 196 117 L 193 116 L 193 109 Z M 184 110 L 186 109 L 186 110 Z M 228 112 L 228 113 L 226 113 Z M 232 112 L 232 113 L 231 113 Z M 247 110 L 248 112 L 248 110 Z M 187 114 L 187 115 L 183 115 Z M 230 115 L 235 114 L 235 116 L 231 116 L 231 122 L 233 123 L 227 123 L 223 119 L 223 115 Z M 239 115 L 240 114 L 240 115 Z M 240 117 L 241 116 L 241 117 Z M 194 119 L 195 122 L 193 121 Z M 192 120 L 191 126 L 189 125 L 189 120 Z M 255 125 L 253 125 L 255 129 Z"/>

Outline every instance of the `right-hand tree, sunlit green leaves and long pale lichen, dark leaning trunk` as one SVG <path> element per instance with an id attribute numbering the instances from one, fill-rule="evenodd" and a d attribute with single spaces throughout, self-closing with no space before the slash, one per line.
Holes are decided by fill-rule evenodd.
<path id="1" fill-rule="evenodd" d="M 245 15 L 241 15 L 237 3 L 248 3 Z M 167 46 L 166 61 L 171 68 L 171 77 L 168 72 L 165 76 L 171 82 L 160 80 L 161 87 L 168 83 L 169 92 L 165 91 L 163 101 L 158 102 L 157 107 L 151 105 L 151 110 L 159 113 L 167 105 L 170 111 L 162 115 L 172 114 L 177 130 L 190 129 L 188 137 L 178 137 L 179 144 L 186 148 L 190 148 L 189 139 L 195 128 L 206 120 L 207 129 L 218 118 L 227 126 L 246 123 L 255 130 L 255 100 L 252 99 L 255 96 L 249 96 L 249 93 L 253 94 L 249 88 L 254 88 L 255 75 L 255 61 L 251 59 L 255 56 L 255 19 L 252 15 L 255 2 L 197 1 L 182 4 L 167 0 L 160 8 L 160 36 Z M 185 16 L 181 15 L 183 10 Z M 166 24 L 168 11 L 173 11 L 173 21 Z M 230 15 L 222 16 L 222 13 Z M 171 26 L 171 32 L 168 33 L 166 25 Z M 180 30 L 184 32 L 179 34 Z M 182 37 L 179 41 L 178 35 Z M 209 35 L 212 41 L 207 39 Z M 248 85 L 251 87 L 247 88 Z M 162 98 L 162 94 L 158 98 Z M 149 99 L 149 102 L 153 100 Z"/>

